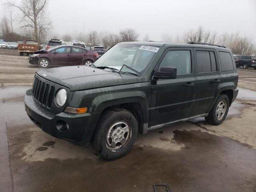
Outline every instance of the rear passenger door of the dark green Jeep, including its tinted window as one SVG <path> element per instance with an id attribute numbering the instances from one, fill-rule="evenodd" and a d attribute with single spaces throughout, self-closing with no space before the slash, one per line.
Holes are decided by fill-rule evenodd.
<path id="1" fill-rule="evenodd" d="M 210 111 L 216 96 L 216 88 L 222 81 L 215 49 L 194 48 L 194 58 L 197 87 L 191 117 Z"/>

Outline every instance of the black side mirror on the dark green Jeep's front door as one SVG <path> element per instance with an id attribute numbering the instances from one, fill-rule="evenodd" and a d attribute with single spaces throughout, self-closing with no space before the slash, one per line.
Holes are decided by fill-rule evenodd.
<path id="1" fill-rule="evenodd" d="M 160 67 L 154 74 L 155 79 L 175 79 L 177 76 L 176 67 Z"/>

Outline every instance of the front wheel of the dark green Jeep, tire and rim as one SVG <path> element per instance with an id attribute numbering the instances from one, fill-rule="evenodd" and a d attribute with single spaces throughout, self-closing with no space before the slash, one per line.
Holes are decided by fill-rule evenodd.
<path id="1" fill-rule="evenodd" d="M 131 112 L 120 108 L 106 110 L 93 134 L 92 145 L 102 158 L 114 160 L 132 148 L 137 134 L 138 123 Z"/>

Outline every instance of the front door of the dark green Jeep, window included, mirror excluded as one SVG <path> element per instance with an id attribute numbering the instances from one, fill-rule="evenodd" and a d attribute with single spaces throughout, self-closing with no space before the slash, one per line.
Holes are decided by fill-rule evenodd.
<path id="1" fill-rule="evenodd" d="M 169 48 L 159 67 L 177 68 L 176 79 L 152 83 L 149 127 L 188 118 L 192 109 L 196 78 L 192 48 Z"/>

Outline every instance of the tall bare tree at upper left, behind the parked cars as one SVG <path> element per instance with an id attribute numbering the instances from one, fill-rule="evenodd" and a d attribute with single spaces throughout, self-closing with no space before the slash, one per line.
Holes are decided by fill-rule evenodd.
<path id="1" fill-rule="evenodd" d="M 34 37 L 40 40 L 45 36 L 47 29 L 52 25 L 52 22 L 46 14 L 47 0 L 22 0 L 18 5 L 8 0 L 6 5 L 15 7 L 22 13 L 22 28 L 33 28 Z"/>

